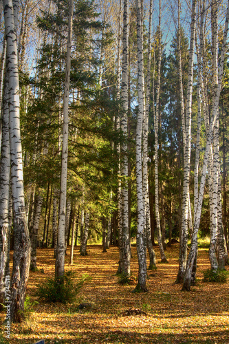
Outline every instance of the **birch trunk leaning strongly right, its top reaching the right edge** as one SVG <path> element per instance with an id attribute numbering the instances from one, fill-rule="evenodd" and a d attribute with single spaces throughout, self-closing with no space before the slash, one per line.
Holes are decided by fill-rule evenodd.
<path id="1" fill-rule="evenodd" d="M 199 197 L 198 197 L 198 203 L 197 203 L 197 211 L 195 213 L 195 219 L 194 219 L 194 227 L 193 227 L 193 238 L 191 242 L 190 252 L 188 255 L 188 261 L 186 264 L 186 271 L 184 276 L 184 284 L 182 287 L 182 290 L 190 290 L 190 286 L 192 284 L 192 271 L 193 271 L 193 264 L 195 263 L 195 257 L 197 254 L 197 234 L 199 230 L 199 222 L 200 222 L 200 216 L 201 216 L 201 208 L 202 208 L 202 202 L 204 197 L 204 184 L 206 180 L 206 171 L 207 171 L 207 165 L 208 165 L 208 155 L 210 153 L 210 146 L 212 142 L 212 133 L 213 128 L 215 126 L 215 121 L 217 119 L 217 110 L 219 107 L 219 96 L 221 92 L 221 82 L 222 82 L 222 76 L 223 76 L 223 64 L 224 64 L 224 58 L 225 58 L 225 51 L 226 51 L 226 37 L 228 34 L 228 19 L 229 19 L 229 1 L 228 1 L 228 8 L 227 8 L 227 14 L 226 14 L 226 21 L 225 21 L 225 28 L 223 32 L 223 43 L 221 47 L 221 58 L 219 63 L 219 80 L 217 85 L 217 96 L 215 98 L 215 102 L 213 104 L 212 109 L 212 116 L 210 118 L 210 126 L 207 136 L 207 142 L 206 142 L 206 150 L 204 153 L 204 163 L 202 167 L 202 173 L 201 173 L 201 182 L 199 185 Z"/>

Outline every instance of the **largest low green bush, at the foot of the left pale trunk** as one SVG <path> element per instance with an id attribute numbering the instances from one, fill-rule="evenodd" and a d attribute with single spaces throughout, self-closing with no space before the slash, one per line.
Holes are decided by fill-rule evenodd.
<path id="1" fill-rule="evenodd" d="M 89 276 L 85 274 L 78 283 L 74 283 L 74 277 L 74 273 L 68 271 L 60 279 L 47 278 L 38 286 L 39 299 L 47 302 L 72 303 L 83 283 L 89 279 Z"/>

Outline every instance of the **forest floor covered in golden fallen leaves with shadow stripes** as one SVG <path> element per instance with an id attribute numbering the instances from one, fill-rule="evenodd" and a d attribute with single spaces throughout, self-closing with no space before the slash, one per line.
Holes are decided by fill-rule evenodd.
<path id="1" fill-rule="evenodd" d="M 85 273 L 91 279 L 84 283 L 74 303 L 63 305 L 34 303 L 38 301 L 37 284 L 54 276 L 55 263 L 52 249 L 38 249 L 39 271 L 30 272 L 28 282 L 28 319 L 12 324 L 9 341 L 4 338 L 2 327 L 0 343 L 33 344 L 42 338 L 45 344 L 229 343 L 229 281 L 202 281 L 203 271 L 210 268 L 206 248 L 199 248 L 197 285 L 190 292 L 182 292 L 182 286 L 174 284 L 179 244 L 167 248 L 168 264 L 160 263 L 156 246 L 157 270 L 149 271 L 149 292 L 145 293 L 132 292 L 138 277 L 135 247 L 131 259 L 133 281 L 127 286 L 120 285 L 116 276 L 118 248 L 112 246 L 102 253 L 101 246 L 91 245 L 87 250 L 89 255 L 81 257 L 75 248 L 74 265 L 69 266 L 67 249 L 66 271 L 73 270 L 78 280 Z M 82 302 L 93 307 L 78 311 Z M 0 316 L 2 323 L 5 314 Z"/>

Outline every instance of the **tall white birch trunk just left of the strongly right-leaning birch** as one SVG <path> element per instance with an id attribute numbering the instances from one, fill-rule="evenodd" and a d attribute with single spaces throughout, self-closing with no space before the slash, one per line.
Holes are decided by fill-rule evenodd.
<path id="1" fill-rule="evenodd" d="M 191 118 L 192 118 L 192 95 L 193 95 L 193 58 L 195 45 L 195 11 L 196 0 L 193 0 L 191 25 L 190 25 L 190 50 L 188 62 L 188 87 L 186 101 L 186 118 L 185 118 L 185 147 L 184 147 L 184 179 L 182 194 L 182 230 L 179 243 L 179 270 L 177 273 L 177 283 L 184 281 L 184 273 L 187 260 L 187 243 L 188 243 L 188 208 L 189 208 L 189 179 L 190 179 L 190 140 L 191 140 Z"/>

